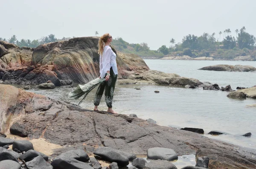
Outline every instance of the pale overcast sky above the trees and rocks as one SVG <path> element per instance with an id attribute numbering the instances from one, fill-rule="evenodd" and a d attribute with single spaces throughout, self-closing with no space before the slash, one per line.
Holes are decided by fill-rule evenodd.
<path id="1" fill-rule="evenodd" d="M 0 37 L 40 39 L 110 33 L 150 49 L 170 46 L 174 38 L 245 26 L 256 36 L 254 0 L 0 0 Z M 221 39 L 223 38 L 223 34 Z"/>

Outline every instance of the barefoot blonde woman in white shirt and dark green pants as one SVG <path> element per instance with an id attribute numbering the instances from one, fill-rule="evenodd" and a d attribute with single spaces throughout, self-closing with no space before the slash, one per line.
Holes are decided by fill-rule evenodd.
<path id="1" fill-rule="evenodd" d="M 99 39 L 99 78 L 105 78 L 105 83 L 101 83 L 94 98 L 94 111 L 98 111 L 98 106 L 105 89 L 105 100 L 108 106 L 108 112 L 115 114 L 112 109 L 113 94 L 117 79 L 116 54 L 112 51 L 110 43 L 112 36 L 104 34 Z"/>

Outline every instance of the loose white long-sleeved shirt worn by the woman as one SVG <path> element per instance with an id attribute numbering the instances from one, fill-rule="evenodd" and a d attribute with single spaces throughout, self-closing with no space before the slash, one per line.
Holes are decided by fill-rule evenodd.
<path id="1" fill-rule="evenodd" d="M 103 54 L 99 56 L 100 77 L 104 78 L 107 71 L 110 71 L 111 67 L 114 74 L 117 74 L 116 54 L 112 51 L 110 46 L 105 46 Z"/>

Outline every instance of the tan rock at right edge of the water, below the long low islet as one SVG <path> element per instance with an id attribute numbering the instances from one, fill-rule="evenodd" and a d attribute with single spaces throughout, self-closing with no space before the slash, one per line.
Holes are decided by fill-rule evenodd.
<path id="1" fill-rule="evenodd" d="M 242 93 L 244 93 L 244 94 L 242 94 Z M 248 97 L 248 98 L 256 98 L 256 86 L 246 88 L 246 89 L 237 90 L 235 92 L 230 92 L 227 95 L 227 97 L 244 97 L 244 95 L 246 95 L 246 97 Z"/>

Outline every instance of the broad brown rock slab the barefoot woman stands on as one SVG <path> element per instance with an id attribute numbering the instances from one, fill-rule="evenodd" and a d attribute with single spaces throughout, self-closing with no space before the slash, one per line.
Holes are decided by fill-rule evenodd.
<path id="1" fill-rule="evenodd" d="M 15 116 L 19 117 L 14 122 L 24 126 L 29 139 L 40 137 L 51 143 L 68 146 L 108 146 L 133 153 L 164 147 L 173 149 L 177 155 L 196 153 L 197 157 L 207 156 L 210 169 L 256 168 L 255 150 L 194 132 L 158 126 L 138 117 L 93 112 L 13 86 L 0 85 L 0 92 L 3 105 L 0 118 L 15 112 Z M 2 131 L 8 129 L 7 120 L 0 120 Z"/>

